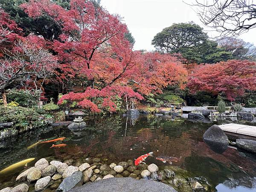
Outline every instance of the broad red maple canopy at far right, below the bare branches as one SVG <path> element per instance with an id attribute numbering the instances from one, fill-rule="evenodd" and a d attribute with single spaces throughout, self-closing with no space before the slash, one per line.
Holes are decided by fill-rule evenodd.
<path id="1" fill-rule="evenodd" d="M 230 101 L 242 96 L 245 90 L 256 90 L 256 63 L 230 60 L 217 64 L 199 65 L 189 78 L 192 92 L 207 91 L 225 94 Z"/>

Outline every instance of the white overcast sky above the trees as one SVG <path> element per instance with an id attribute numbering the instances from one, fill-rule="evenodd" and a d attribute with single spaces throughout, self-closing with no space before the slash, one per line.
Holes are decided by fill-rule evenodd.
<path id="1" fill-rule="evenodd" d="M 192 0 L 185 0 L 191 2 Z M 172 23 L 194 21 L 202 25 L 195 11 L 183 0 L 101 0 L 101 4 L 112 14 L 124 18 L 128 29 L 135 38 L 134 49 L 153 50 L 151 41 L 163 28 Z M 208 32 L 209 36 L 214 33 Z M 256 29 L 241 35 L 242 39 L 256 45 Z"/>

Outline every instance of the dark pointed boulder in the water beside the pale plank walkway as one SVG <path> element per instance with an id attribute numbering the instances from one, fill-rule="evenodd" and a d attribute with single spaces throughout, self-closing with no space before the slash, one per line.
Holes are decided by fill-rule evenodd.
<path id="1" fill-rule="evenodd" d="M 203 135 L 204 140 L 210 140 L 220 143 L 229 143 L 227 135 L 218 125 L 212 125 Z"/>

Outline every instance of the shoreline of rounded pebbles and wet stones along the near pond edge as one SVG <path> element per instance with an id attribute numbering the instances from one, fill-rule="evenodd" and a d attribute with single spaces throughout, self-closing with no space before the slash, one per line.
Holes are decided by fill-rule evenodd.
<path id="1" fill-rule="evenodd" d="M 176 166 L 157 166 L 155 164 L 134 165 L 127 162 L 110 162 L 101 155 L 97 157 L 70 156 L 62 160 L 47 157 L 38 160 L 34 166 L 23 170 L 12 183 L 5 184 L 0 192 L 67 192 L 85 183 L 94 183 L 111 177 L 131 177 L 136 180 L 159 181 L 178 192 L 213 191 L 205 178 L 192 177 L 186 170 Z M 9 184 L 9 186 L 8 186 Z"/>

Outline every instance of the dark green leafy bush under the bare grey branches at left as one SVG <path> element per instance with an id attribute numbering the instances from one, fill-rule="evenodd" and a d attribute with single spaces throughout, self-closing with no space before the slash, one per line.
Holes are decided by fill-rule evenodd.
<path id="1" fill-rule="evenodd" d="M 40 91 L 36 90 L 7 90 L 7 102 L 17 102 L 21 107 L 32 108 L 38 106 Z"/>

